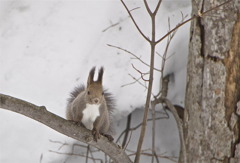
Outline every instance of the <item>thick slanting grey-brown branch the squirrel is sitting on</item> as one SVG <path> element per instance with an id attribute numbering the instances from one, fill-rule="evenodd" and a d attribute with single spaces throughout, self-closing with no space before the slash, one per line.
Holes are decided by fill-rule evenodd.
<path id="1" fill-rule="evenodd" d="M 104 136 L 101 136 L 97 142 L 94 141 L 90 130 L 80 127 L 71 121 L 67 121 L 47 111 L 44 106 L 36 106 L 29 102 L 0 94 L 0 108 L 25 115 L 42 124 L 45 124 L 59 133 L 92 145 L 106 153 L 115 162 L 132 162 L 124 150 L 121 149 L 117 144 L 109 142 Z"/>

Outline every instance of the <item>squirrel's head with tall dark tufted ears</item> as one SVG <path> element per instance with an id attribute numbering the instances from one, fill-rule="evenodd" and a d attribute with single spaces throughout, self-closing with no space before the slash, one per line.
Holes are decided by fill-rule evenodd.
<path id="1" fill-rule="evenodd" d="M 86 99 L 89 104 L 99 105 L 104 100 L 104 92 L 102 86 L 102 77 L 103 77 L 103 67 L 98 71 L 98 79 L 94 81 L 94 73 L 95 67 L 91 69 L 88 76 L 87 81 L 87 89 L 86 89 Z"/>

